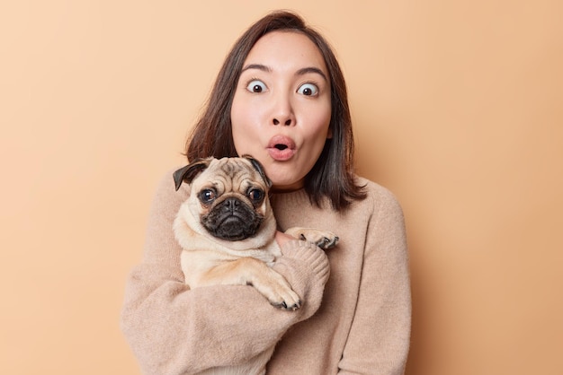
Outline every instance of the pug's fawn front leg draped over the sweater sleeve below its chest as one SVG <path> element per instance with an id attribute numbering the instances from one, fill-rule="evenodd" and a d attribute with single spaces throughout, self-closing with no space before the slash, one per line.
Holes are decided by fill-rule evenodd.
<path id="1" fill-rule="evenodd" d="M 299 296 L 290 283 L 269 266 L 254 257 L 241 257 L 221 263 L 201 275 L 199 285 L 253 285 L 270 303 L 281 309 L 297 310 Z"/>

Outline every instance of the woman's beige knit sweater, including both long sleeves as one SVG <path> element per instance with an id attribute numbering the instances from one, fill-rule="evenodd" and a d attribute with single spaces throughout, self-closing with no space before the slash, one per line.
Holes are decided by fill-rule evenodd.
<path id="1" fill-rule="evenodd" d="M 360 183 L 368 197 L 344 213 L 318 209 L 303 190 L 272 197 L 281 230 L 316 227 L 340 237 L 327 257 L 303 241 L 284 246 L 274 269 L 304 301 L 286 311 L 251 286 L 184 285 L 172 222 L 187 193 L 165 176 L 121 315 L 141 371 L 191 374 L 244 362 L 281 340 L 268 374 L 402 374 L 411 320 L 403 215 L 388 190 Z"/>

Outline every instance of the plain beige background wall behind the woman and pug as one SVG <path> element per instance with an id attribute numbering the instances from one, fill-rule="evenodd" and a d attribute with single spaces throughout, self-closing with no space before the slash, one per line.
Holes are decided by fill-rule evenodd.
<path id="1" fill-rule="evenodd" d="M 118 321 L 156 182 L 233 41 L 286 7 L 335 46 L 359 171 L 405 210 L 407 374 L 559 374 L 561 4 L 2 2 L 0 373 L 139 373 Z"/>

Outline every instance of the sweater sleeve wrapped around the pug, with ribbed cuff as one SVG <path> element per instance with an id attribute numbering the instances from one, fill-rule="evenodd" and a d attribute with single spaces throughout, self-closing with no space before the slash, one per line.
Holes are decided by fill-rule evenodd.
<path id="1" fill-rule="evenodd" d="M 185 190 L 174 191 L 172 176 L 160 184 L 143 261 L 126 285 L 121 330 L 144 374 L 190 374 L 247 361 L 316 312 L 328 277 L 321 249 L 290 240 L 273 267 L 304 301 L 299 310 L 278 310 L 246 285 L 190 290 L 183 283 L 182 249 L 172 230 L 185 197 Z"/>

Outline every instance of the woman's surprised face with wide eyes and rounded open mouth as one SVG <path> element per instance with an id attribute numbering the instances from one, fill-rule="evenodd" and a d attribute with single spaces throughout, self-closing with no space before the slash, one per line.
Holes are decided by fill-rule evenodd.
<path id="1" fill-rule="evenodd" d="M 332 136 L 328 71 L 313 42 L 285 31 L 259 39 L 246 57 L 230 114 L 237 153 L 260 161 L 273 188 L 301 188 Z"/>

